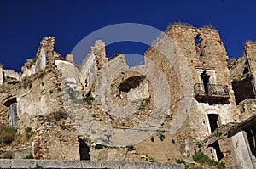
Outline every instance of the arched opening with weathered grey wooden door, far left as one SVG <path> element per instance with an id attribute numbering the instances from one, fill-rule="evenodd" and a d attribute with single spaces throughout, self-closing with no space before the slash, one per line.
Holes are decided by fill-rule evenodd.
<path id="1" fill-rule="evenodd" d="M 17 113 L 17 99 L 16 98 L 11 98 L 8 99 L 7 101 L 4 102 L 6 107 L 8 107 L 7 115 L 9 119 L 9 125 L 11 127 L 18 127 L 18 113 Z"/>

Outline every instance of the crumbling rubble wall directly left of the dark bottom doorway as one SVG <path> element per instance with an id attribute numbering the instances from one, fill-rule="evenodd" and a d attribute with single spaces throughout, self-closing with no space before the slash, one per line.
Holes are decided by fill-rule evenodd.
<path id="1" fill-rule="evenodd" d="M 79 161 L 78 132 L 67 117 L 59 119 L 58 113 L 65 112 L 56 111 L 36 118 L 34 158 Z"/>

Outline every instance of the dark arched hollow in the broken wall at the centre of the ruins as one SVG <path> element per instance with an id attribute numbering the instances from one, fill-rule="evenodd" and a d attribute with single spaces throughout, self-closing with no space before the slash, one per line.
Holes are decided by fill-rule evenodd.
<path id="1" fill-rule="evenodd" d="M 136 88 L 146 76 L 132 76 L 119 85 L 119 91 L 128 93 L 131 88 Z"/>

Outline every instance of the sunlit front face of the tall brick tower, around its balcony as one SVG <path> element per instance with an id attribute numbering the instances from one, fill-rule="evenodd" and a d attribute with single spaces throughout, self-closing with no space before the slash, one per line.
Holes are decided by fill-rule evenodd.
<path id="1" fill-rule="evenodd" d="M 184 56 L 183 65 L 188 70 L 184 70 L 179 65 L 181 67 L 179 73 L 188 75 L 190 72 L 190 79 L 186 81 L 187 84 L 189 82 L 189 87 L 184 93 L 190 97 L 191 104 L 186 122 L 177 132 L 177 141 L 182 144 L 182 154 L 191 155 L 195 152 L 195 143 L 211 134 L 207 114 L 220 115 L 220 124 L 239 120 L 239 113 L 236 110 L 235 97 L 230 81 L 230 72 L 227 68 L 226 59 L 228 57 L 217 30 L 171 25 L 166 31 L 166 35 L 176 42 L 177 48 Z M 199 44 L 195 44 L 195 38 L 197 37 L 200 41 Z M 200 53 L 198 53 L 198 50 Z M 180 56 L 176 54 L 176 57 Z M 212 83 L 228 85 L 230 93 L 229 104 L 209 105 L 207 103 L 199 103 L 194 99 L 192 87 L 195 83 L 201 83 L 200 75 L 203 70 L 206 70 L 212 76 Z M 182 84 L 184 85 L 185 83 Z M 212 155 L 209 154 L 209 156 Z M 213 158 L 213 160 L 216 159 Z"/>

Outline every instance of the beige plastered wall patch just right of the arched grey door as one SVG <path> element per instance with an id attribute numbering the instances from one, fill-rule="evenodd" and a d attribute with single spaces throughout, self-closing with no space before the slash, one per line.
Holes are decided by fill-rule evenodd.
<path id="1" fill-rule="evenodd" d="M 44 75 L 45 74 L 45 75 Z M 32 87 L 17 96 L 19 115 L 47 115 L 60 109 L 58 76 L 42 70 L 41 76 L 33 76 Z"/>

